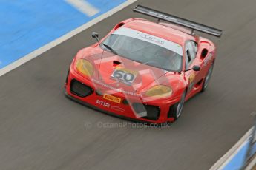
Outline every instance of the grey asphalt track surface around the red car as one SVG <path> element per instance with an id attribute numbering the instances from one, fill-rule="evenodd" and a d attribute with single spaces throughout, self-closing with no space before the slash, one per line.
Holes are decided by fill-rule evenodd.
<path id="1" fill-rule="evenodd" d="M 171 127 L 100 128 L 125 120 L 63 94 L 73 55 L 144 4 L 221 28 L 209 89 Z M 0 169 L 209 169 L 252 126 L 256 110 L 255 0 L 138 1 L 0 78 Z M 144 18 L 148 18 L 143 16 Z M 92 126 L 89 128 L 88 123 Z"/>

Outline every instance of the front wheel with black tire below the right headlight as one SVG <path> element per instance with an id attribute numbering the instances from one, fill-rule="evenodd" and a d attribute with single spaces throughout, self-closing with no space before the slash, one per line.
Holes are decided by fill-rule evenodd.
<path id="1" fill-rule="evenodd" d="M 174 121 L 180 118 L 180 115 L 183 112 L 183 105 L 185 103 L 185 98 L 186 98 L 186 92 L 183 92 L 180 102 L 170 107 L 168 112 L 168 118 L 174 118 Z"/>

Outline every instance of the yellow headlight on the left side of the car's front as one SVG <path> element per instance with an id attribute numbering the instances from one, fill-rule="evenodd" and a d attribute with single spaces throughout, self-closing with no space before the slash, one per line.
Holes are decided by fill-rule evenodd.
<path id="1" fill-rule="evenodd" d="M 76 61 L 76 69 L 83 75 L 93 75 L 93 65 L 87 60 L 79 59 Z"/>

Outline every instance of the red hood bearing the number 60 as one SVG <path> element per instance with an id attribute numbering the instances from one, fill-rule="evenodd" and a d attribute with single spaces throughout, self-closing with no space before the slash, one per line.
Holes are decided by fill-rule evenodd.
<path id="1" fill-rule="evenodd" d="M 158 80 L 168 73 L 163 69 L 131 61 L 111 52 L 91 55 L 86 59 L 94 67 L 92 81 L 101 86 L 107 85 L 108 88 L 113 87 L 127 92 L 141 92 L 149 85 L 162 84 Z M 168 79 L 161 78 L 161 81 L 165 81 L 166 84 Z"/>

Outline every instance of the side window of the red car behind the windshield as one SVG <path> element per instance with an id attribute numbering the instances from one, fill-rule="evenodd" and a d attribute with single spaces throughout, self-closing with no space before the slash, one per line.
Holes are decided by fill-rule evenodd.
<path id="1" fill-rule="evenodd" d="M 197 55 L 197 46 L 193 41 L 186 42 L 186 69 L 190 67 Z"/>

